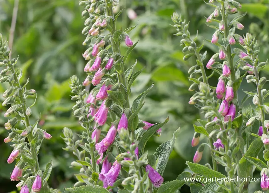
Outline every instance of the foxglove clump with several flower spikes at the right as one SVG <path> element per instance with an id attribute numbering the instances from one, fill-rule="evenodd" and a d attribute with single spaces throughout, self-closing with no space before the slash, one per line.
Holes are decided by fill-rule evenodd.
<path id="1" fill-rule="evenodd" d="M 267 135 L 268 120 L 265 120 L 264 113 L 269 113 L 269 107 L 264 105 L 264 99 L 269 95 L 266 89 L 262 89 L 267 82 L 265 77 L 259 78 L 259 72 L 267 62 L 260 62 L 258 59 L 259 48 L 257 41 L 250 33 L 242 37 L 236 34 L 236 29 L 242 30 L 244 26 L 239 23 L 239 19 L 245 14 L 231 17 L 237 13 L 241 5 L 234 0 L 212 0 L 206 3 L 215 10 L 206 20 L 208 27 L 216 30 L 211 42 L 219 50 L 211 56 L 206 64 L 206 68 L 212 73 L 207 76 L 204 61 L 206 51 L 201 54 L 203 44 L 197 46 L 197 36 L 192 38 L 188 27 L 189 24 L 174 13 L 172 21 L 178 33 L 182 36 L 181 46 L 184 46 L 183 53 L 186 53 L 184 60 L 195 56 L 196 65 L 189 69 L 189 80 L 193 82 L 190 89 L 193 91 L 194 85 L 198 85 L 199 90 L 191 97 L 189 104 L 200 109 L 206 120 L 198 119 L 201 126 L 194 125 L 195 134 L 192 139 L 192 146 L 199 145 L 201 134 L 208 137 L 208 143 L 200 144 L 193 158 L 193 162 L 187 162 L 189 169 L 196 175 L 203 177 L 220 178 L 248 178 L 252 176 L 255 167 L 261 170 L 261 188 L 267 190 L 268 166 L 269 166 L 269 138 Z M 230 20 L 231 19 L 231 20 Z M 210 24 L 209 24 L 210 23 Z M 233 48 L 239 44 L 242 49 Z M 218 59 L 219 58 L 219 59 Z M 208 79 L 214 74 L 219 74 L 217 87 L 208 84 Z M 249 75 L 247 75 L 249 74 Z M 247 76 L 246 76 L 247 75 Z M 238 90 L 243 78 L 247 82 L 256 84 L 255 92 L 244 91 L 245 96 L 239 103 Z M 253 97 L 255 107 L 244 109 L 243 103 Z M 204 148 L 208 146 L 211 151 L 212 166 L 198 164 L 202 160 Z M 264 148 L 264 163 L 257 158 Z M 218 165 L 225 167 L 227 176 L 218 171 Z M 205 172 L 206 171 L 206 172 Z M 186 173 L 185 173 L 186 175 Z M 191 174 L 189 174 L 191 175 Z M 201 184 L 195 183 L 199 192 L 244 192 L 248 189 L 249 181 L 229 182 L 214 181 L 205 182 L 201 179 Z M 204 186 L 202 185 L 204 184 Z M 192 187 L 192 183 L 188 184 Z M 214 188 L 212 188 L 214 187 Z"/>

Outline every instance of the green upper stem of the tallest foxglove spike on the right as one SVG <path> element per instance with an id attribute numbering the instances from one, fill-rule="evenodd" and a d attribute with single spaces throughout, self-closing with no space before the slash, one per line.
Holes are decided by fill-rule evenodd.
<path id="1" fill-rule="evenodd" d="M 228 21 L 227 21 L 228 20 L 227 15 L 225 14 L 224 3 L 221 3 L 221 16 L 222 16 L 222 20 L 224 21 L 224 24 L 225 24 L 224 38 L 227 39 L 228 35 L 229 35 L 229 25 L 228 25 Z M 236 78 L 235 78 L 235 68 L 233 65 L 232 46 L 231 45 L 227 46 L 226 55 L 227 55 L 227 60 L 229 62 L 229 66 L 230 66 L 230 70 L 231 70 L 230 78 L 234 82 L 236 80 Z M 237 90 L 234 92 L 234 98 L 237 99 Z"/>

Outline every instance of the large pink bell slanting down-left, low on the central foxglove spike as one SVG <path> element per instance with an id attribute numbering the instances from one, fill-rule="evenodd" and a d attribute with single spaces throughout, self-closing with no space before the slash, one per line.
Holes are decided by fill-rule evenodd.
<path id="1" fill-rule="evenodd" d="M 98 151 L 99 155 L 104 153 L 108 149 L 108 147 L 113 144 L 116 134 L 117 134 L 117 129 L 115 125 L 112 125 L 110 129 L 108 130 L 106 137 L 99 143 L 95 144 L 95 148 Z"/>

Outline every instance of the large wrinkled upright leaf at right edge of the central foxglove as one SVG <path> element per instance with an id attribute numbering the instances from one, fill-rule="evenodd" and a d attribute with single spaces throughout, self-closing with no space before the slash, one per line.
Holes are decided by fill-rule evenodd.
<path id="1" fill-rule="evenodd" d="M 154 153 L 154 155 L 157 158 L 157 165 L 156 165 L 156 171 L 162 176 L 164 173 L 164 169 L 167 165 L 169 156 L 173 150 L 175 140 L 177 138 L 177 135 L 180 131 L 180 128 L 178 128 L 174 133 L 173 133 L 173 138 L 170 139 L 169 141 L 166 141 L 162 143 Z"/>

